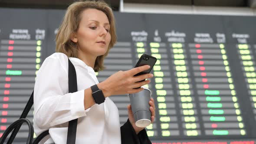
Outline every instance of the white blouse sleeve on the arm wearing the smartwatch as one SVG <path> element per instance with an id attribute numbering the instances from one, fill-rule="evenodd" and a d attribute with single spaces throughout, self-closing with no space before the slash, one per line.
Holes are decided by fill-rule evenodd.
<path id="1" fill-rule="evenodd" d="M 34 122 L 37 126 L 48 129 L 86 116 L 89 109 L 84 109 L 84 90 L 68 93 L 68 67 L 65 62 L 46 58 L 34 86 Z"/>

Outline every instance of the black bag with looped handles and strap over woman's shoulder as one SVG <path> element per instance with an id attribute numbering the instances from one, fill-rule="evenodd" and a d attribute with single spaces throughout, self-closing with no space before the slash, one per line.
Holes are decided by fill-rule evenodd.
<path id="1" fill-rule="evenodd" d="M 77 92 L 77 81 L 76 81 L 75 67 L 72 64 L 72 62 L 69 60 L 69 93 L 72 93 L 72 92 Z M 30 99 L 27 102 L 27 104 L 20 116 L 20 119 L 13 122 L 6 129 L 6 131 L 4 131 L 2 137 L 0 138 L 0 144 L 4 143 L 8 134 L 10 134 L 10 132 L 14 129 L 10 138 L 7 141 L 7 144 L 11 144 L 23 123 L 26 123 L 29 126 L 29 135 L 28 135 L 26 144 L 38 144 L 39 141 L 41 141 L 45 136 L 49 135 L 49 130 L 44 131 L 43 133 L 39 134 L 36 137 L 36 139 L 33 141 L 33 135 L 34 135 L 33 124 L 28 119 L 26 119 L 26 116 L 28 115 L 28 113 L 33 105 L 33 102 L 34 102 L 33 97 L 34 97 L 34 91 L 32 92 Z M 69 121 L 67 144 L 75 144 L 76 127 L 77 127 L 77 119 Z"/>

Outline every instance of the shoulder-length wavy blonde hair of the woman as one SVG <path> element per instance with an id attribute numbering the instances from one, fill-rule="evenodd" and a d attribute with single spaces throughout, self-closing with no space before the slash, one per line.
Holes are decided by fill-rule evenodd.
<path id="1" fill-rule="evenodd" d="M 108 45 L 108 50 L 105 55 L 98 56 L 95 60 L 94 71 L 98 72 L 105 69 L 104 58 L 108 55 L 109 50 L 116 43 L 116 33 L 115 33 L 115 17 L 112 12 L 111 7 L 108 6 L 103 0 L 86 0 L 82 2 L 72 3 L 66 10 L 66 14 L 63 18 L 62 24 L 59 27 L 58 33 L 56 34 L 56 52 L 62 52 L 68 57 L 78 56 L 77 43 L 72 42 L 70 36 L 79 29 L 79 23 L 81 21 L 81 13 L 86 9 L 97 9 L 104 12 L 110 23 L 110 35 L 111 40 Z"/>

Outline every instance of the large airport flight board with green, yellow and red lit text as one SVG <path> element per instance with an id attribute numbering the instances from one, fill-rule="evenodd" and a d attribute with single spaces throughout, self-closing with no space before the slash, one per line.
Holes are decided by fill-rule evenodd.
<path id="1" fill-rule="evenodd" d="M 19 117 L 36 72 L 55 52 L 64 10 L 0 9 L 0 136 Z M 146 53 L 156 118 L 146 127 L 153 144 L 254 144 L 256 141 L 256 18 L 115 12 L 118 43 L 99 82 L 132 69 Z M 127 95 L 109 97 L 120 126 Z M 32 120 L 33 109 L 28 115 Z M 23 144 L 23 126 L 15 143 Z M 36 137 L 36 135 L 34 135 Z"/>

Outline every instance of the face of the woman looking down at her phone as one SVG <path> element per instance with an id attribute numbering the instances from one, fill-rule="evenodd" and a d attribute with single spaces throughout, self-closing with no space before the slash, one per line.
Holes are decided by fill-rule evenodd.
<path id="1" fill-rule="evenodd" d="M 102 56 L 108 50 L 111 40 L 110 24 L 105 13 L 96 9 L 86 9 L 81 14 L 79 29 L 73 42 L 79 50 L 89 56 Z"/>

